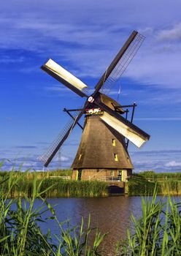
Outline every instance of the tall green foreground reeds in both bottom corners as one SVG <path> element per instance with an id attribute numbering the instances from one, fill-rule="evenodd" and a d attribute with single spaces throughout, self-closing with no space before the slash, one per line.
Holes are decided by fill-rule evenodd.
<path id="1" fill-rule="evenodd" d="M 9 176 L 1 178 L 0 255 L 104 255 L 100 246 L 105 235 L 90 228 L 90 218 L 87 225 L 82 219 L 78 227 L 72 227 L 69 222 L 58 222 L 54 208 L 43 197 L 53 189 L 54 183 L 47 187 L 44 184 L 46 179 L 39 181 L 35 175 L 31 197 L 27 197 L 24 192 L 22 200 L 22 184 L 27 174 L 28 170 L 18 174 L 12 171 Z M 16 190 L 18 197 L 9 199 L 17 188 L 21 188 Z M 155 188 L 152 198 L 142 198 L 142 215 L 139 219 L 134 215 L 131 217 L 134 232 L 127 230 L 127 239 L 118 243 L 115 255 L 181 255 L 181 202 L 176 203 L 172 197 L 158 200 L 157 192 Z M 34 207 L 37 198 L 42 200 L 44 206 Z M 46 211 L 49 212 L 49 219 L 58 223 L 59 233 L 56 236 L 50 231 L 42 233 L 39 227 L 39 222 L 45 222 L 43 216 Z M 53 237 L 56 238 L 56 243 L 53 242 Z M 93 242 L 90 242 L 90 237 L 93 237 Z"/>

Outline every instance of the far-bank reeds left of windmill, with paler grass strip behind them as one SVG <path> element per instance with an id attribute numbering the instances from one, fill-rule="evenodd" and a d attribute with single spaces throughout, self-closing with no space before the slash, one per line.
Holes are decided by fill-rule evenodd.
<path id="1" fill-rule="evenodd" d="M 1 172 L 0 172 L 1 173 Z M 12 172 L 5 172 L 0 176 L 0 181 L 3 178 L 9 179 Z M 108 195 L 107 184 L 101 181 L 72 181 L 71 179 L 65 180 L 62 176 L 69 176 L 72 170 L 55 170 L 47 172 L 26 172 L 23 174 L 20 170 L 14 171 L 15 177 L 23 178 L 18 181 L 10 190 L 9 197 L 28 196 L 31 197 L 34 187 L 34 179 L 37 183 L 41 183 L 40 189 L 44 190 L 51 187 L 48 192 L 44 194 L 45 197 L 99 197 Z M 3 178 L 2 178 L 3 177 Z M 7 193 L 8 181 L 3 184 L 4 193 Z"/>

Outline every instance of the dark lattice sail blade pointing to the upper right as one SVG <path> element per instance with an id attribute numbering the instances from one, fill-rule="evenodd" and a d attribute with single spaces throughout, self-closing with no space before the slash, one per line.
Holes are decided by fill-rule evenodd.
<path id="1" fill-rule="evenodd" d="M 107 68 L 104 75 L 102 75 L 99 82 L 96 84 L 96 91 L 107 93 L 109 89 L 118 82 L 120 76 L 128 67 L 128 64 L 134 58 L 137 50 L 142 45 L 145 37 L 139 34 L 137 31 L 133 31 L 131 36 L 128 38 L 123 48 L 120 49 L 118 55 L 112 61 Z"/>

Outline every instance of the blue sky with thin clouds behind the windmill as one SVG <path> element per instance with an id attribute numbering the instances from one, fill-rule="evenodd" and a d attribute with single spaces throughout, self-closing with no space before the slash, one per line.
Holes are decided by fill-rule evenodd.
<path id="1" fill-rule="evenodd" d="M 69 121 L 63 108 L 84 99 L 40 67 L 52 58 L 90 88 L 133 30 L 145 41 L 110 96 L 137 103 L 134 124 L 150 134 L 129 144 L 135 171 L 181 170 L 181 2 L 179 0 L 9 0 L 0 9 L 0 159 L 2 170 L 42 170 L 38 157 Z M 80 121 L 83 124 L 83 118 Z M 48 167 L 70 167 L 76 127 Z"/>

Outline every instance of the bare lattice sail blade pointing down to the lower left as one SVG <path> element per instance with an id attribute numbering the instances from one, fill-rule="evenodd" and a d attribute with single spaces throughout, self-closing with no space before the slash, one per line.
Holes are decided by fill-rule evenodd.
<path id="1" fill-rule="evenodd" d="M 71 119 L 69 123 L 66 124 L 66 127 L 64 127 L 63 130 L 58 134 L 57 138 L 55 138 L 55 140 L 47 149 L 45 154 L 39 157 L 39 159 L 44 162 L 45 167 L 47 167 L 50 164 L 53 157 L 55 157 L 55 154 L 61 148 L 63 142 L 69 137 L 69 135 L 72 132 L 72 129 L 74 129 L 74 126 L 77 124 L 82 114 L 84 113 L 84 110 L 82 110 L 81 112 L 80 111 L 77 111 L 77 112 L 78 113 L 74 114 L 74 118 Z"/>

